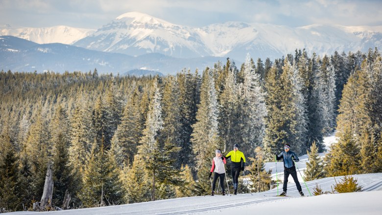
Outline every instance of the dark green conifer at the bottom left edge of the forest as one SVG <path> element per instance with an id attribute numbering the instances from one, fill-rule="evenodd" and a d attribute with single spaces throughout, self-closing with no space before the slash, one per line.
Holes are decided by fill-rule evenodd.
<path id="1" fill-rule="evenodd" d="M 0 208 L 7 211 L 18 211 L 22 209 L 20 196 L 19 159 L 11 143 L 8 128 L 3 129 L 0 135 Z"/>

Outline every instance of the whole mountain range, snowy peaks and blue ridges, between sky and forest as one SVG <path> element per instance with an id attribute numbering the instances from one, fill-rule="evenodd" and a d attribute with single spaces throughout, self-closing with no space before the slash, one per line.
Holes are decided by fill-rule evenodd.
<path id="1" fill-rule="evenodd" d="M 46 52 L 45 55 L 41 55 L 38 49 L 24 50 L 27 47 L 23 48 L 24 52 L 7 48 L 1 50 L 0 69 L 39 72 L 89 71 L 97 67 L 114 73 L 144 68 L 174 74 L 183 68 L 204 69 L 217 61 L 225 62 L 227 57 L 240 65 L 247 53 L 255 60 L 260 57 L 264 61 L 267 57 L 274 60 L 294 54 L 296 48 L 305 48 L 308 54 L 315 52 L 321 56 L 331 55 L 334 51 L 382 49 L 382 26 L 314 24 L 288 27 L 231 21 L 192 28 L 138 12 L 122 14 L 95 31 L 67 26 L 4 26 L 0 28 L 0 35 L 13 35 L 39 44 L 48 43 L 46 46 L 51 46 L 50 43 L 67 44 L 56 44 L 52 49 L 55 52 Z M 36 50 L 38 54 L 33 55 Z M 77 50 L 81 51 L 77 53 Z M 125 57 L 107 53 L 124 54 Z"/>

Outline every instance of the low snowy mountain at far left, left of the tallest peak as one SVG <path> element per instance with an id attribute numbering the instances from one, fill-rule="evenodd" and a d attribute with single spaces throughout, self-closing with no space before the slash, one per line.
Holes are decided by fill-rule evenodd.
<path id="1" fill-rule="evenodd" d="M 0 36 L 9 35 L 40 44 L 72 44 L 84 37 L 89 36 L 93 32 L 93 29 L 73 28 L 64 25 L 43 28 L 14 28 L 10 25 L 5 25 L 3 28 L 0 28 Z"/>

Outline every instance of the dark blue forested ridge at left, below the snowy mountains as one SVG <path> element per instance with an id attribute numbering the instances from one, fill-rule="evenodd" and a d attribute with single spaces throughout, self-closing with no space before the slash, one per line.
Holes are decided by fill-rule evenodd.
<path id="1" fill-rule="evenodd" d="M 132 57 L 125 54 L 89 50 L 62 43 L 38 44 L 12 36 L 0 36 L 0 70 L 4 71 L 83 71 L 149 75 L 176 74 L 182 69 L 204 69 L 224 58 L 181 59 L 158 53 Z"/>

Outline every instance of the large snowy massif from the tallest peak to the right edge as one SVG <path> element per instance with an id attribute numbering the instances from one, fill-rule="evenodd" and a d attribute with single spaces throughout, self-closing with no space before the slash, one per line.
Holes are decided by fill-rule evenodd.
<path id="1" fill-rule="evenodd" d="M 382 26 L 309 25 L 225 22 L 191 28 L 138 13 L 125 13 L 74 45 L 133 56 L 161 53 L 177 58 L 202 56 L 281 58 L 305 48 L 319 55 L 334 51 L 382 48 Z"/>

